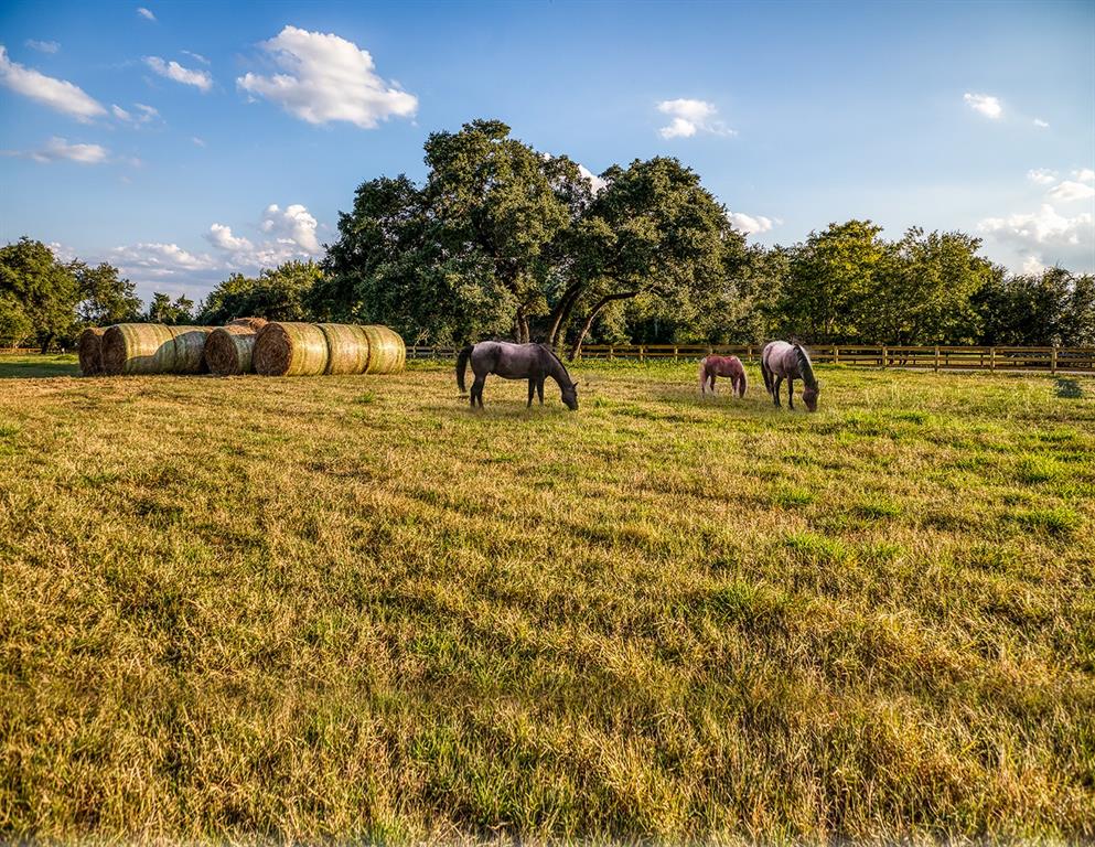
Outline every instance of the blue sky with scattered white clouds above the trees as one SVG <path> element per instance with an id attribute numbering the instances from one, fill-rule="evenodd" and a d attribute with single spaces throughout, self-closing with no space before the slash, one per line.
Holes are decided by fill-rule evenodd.
<path id="1" fill-rule="evenodd" d="M 0 239 L 203 297 L 500 118 L 676 156 L 764 244 L 871 218 L 1095 270 L 1095 3 L 0 0 Z M 363 53 L 364 52 L 364 53 Z"/>

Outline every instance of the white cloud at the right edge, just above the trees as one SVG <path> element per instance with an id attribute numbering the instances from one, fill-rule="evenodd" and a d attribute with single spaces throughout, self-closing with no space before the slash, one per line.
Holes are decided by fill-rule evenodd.
<path id="1" fill-rule="evenodd" d="M 1043 203 L 1037 212 L 985 218 L 978 229 L 1016 248 L 1026 257 L 1024 267 L 1037 261 L 1081 272 L 1095 268 L 1095 216 L 1089 212 L 1070 217 Z"/>

